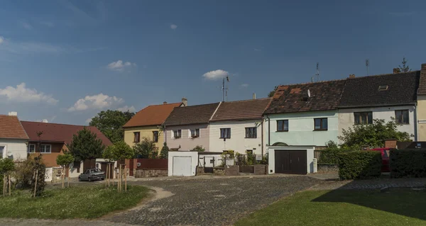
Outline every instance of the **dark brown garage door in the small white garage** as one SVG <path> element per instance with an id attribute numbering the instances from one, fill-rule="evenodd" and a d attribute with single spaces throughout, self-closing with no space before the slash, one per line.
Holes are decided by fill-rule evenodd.
<path id="1" fill-rule="evenodd" d="M 307 174 L 306 150 L 275 150 L 275 174 Z"/>

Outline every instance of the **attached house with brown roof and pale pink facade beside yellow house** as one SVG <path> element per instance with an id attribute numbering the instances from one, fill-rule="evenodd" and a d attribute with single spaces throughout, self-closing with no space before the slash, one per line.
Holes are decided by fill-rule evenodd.
<path id="1" fill-rule="evenodd" d="M 220 103 L 174 108 L 165 120 L 165 142 L 171 149 L 190 151 L 197 145 L 209 151 L 209 120 Z"/>

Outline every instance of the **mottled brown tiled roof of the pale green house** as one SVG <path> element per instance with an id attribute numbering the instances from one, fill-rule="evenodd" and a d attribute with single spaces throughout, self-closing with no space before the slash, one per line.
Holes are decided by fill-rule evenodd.
<path id="1" fill-rule="evenodd" d="M 278 86 L 266 114 L 336 109 L 345 80 Z M 310 98 L 307 91 L 310 91 Z"/>

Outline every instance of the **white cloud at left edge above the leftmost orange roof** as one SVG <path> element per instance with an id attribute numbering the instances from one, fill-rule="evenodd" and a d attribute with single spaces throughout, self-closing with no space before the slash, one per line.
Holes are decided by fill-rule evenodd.
<path id="1" fill-rule="evenodd" d="M 26 88 L 25 83 L 18 84 L 15 87 L 6 86 L 0 89 L 0 98 L 6 98 L 7 101 L 15 102 L 45 102 L 49 104 L 56 104 L 58 100 L 53 98 L 52 95 L 43 94 L 35 89 Z"/>

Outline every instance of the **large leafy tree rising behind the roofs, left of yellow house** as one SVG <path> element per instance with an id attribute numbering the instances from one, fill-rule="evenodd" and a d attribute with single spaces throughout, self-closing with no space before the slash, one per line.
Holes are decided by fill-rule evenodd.
<path id="1" fill-rule="evenodd" d="M 89 125 L 98 128 L 111 142 L 124 140 L 123 125 L 126 124 L 135 113 L 130 111 L 101 111 Z"/>

